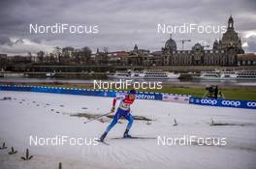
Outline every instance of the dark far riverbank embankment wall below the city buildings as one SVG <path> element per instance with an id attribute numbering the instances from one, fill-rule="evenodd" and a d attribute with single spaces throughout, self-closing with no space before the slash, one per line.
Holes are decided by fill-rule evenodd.
<path id="1" fill-rule="evenodd" d="M 221 67 L 221 66 L 95 66 L 95 65 L 13 65 L 7 71 L 45 71 L 45 72 L 106 72 L 115 70 L 168 70 L 175 72 L 200 72 L 202 70 L 256 70 L 256 66 Z"/>

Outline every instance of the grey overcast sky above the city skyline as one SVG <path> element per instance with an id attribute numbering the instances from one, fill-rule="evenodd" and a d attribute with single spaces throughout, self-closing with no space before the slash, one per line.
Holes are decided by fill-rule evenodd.
<path id="1" fill-rule="evenodd" d="M 244 49 L 256 52 L 255 0 L 1 0 L 0 53 L 25 54 L 50 51 L 53 46 L 89 46 L 94 52 L 107 46 L 110 51 L 139 48 L 161 50 L 168 34 L 157 33 L 157 24 L 227 25 L 232 14 L 235 30 Z M 99 34 L 30 34 L 29 24 L 68 23 L 99 25 Z M 180 40 L 189 39 L 185 49 L 196 42 L 204 45 L 221 34 L 173 34 L 178 49 Z"/>

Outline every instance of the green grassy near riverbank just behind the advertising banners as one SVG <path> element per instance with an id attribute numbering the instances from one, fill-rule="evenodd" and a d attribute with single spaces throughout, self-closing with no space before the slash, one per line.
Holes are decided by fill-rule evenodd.
<path id="1" fill-rule="evenodd" d="M 92 83 L 64 83 L 64 82 L 0 82 L 0 84 L 9 85 L 33 85 L 33 86 L 48 86 L 48 87 L 62 87 L 62 88 L 81 88 L 93 89 Z M 238 99 L 238 100 L 256 100 L 256 87 L 255 86 L 226 86 L 220 85 L 219 89 L 222 91 L 225 99 Z M 162 89 L 158 90 L 140 90 L 143 92 L 158 92 L 170 94 L 191 95 L 194 97 L 203 97 L 206 93 L 205 85 L 178 85 L 178 84 L 164 84 Z"/>

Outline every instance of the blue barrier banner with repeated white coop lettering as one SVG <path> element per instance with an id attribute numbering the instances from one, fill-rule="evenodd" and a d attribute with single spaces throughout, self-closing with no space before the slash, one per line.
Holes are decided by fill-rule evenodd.
<path id="1" fill-rule="evenodd" d="M 189 103 L 220 106 L 220 107 L 235 107 L 235 108 L 250 108 L 256 109 L 256 101 L 253 100 L 230 100 L 230 99 L 199 99 L 191 97 Z"/>

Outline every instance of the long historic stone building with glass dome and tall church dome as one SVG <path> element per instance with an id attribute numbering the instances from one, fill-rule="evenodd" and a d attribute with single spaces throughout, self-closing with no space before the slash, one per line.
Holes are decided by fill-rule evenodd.
<path id="1" fill-rule="evenodd" d="M 162 48 L 163 65 L 187 66 L 237 66 L 238 54 L 243 54 L 240 37 L 234 30 L 234 20 L 230 16 L 227 31 L 220 41 L 215 40 L 212 49 L 205 49 L 196 43 L 191 50 L 177 50 L 176 42 L 170 38 Z"/>

